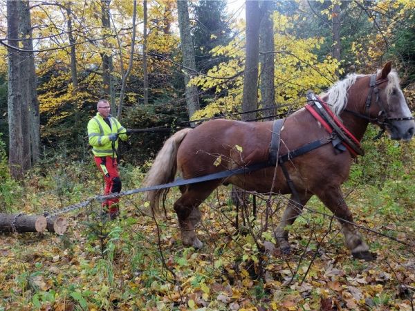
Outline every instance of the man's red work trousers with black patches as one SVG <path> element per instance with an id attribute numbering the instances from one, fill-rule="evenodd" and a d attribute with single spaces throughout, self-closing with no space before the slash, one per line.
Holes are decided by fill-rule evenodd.
<path id="1" fill-rule="evenodd" d="M 120 173 L 118 173 L 117 158 L 111 156 L 97 157 L 94 156 L 95 164 L 98 169 L 104 175 L 105 189 L 104 194 L 112 194 L 114 192 L 120 192 L 121 180 Z M 119 184 L 119 185 L 118 185 Z M 115 187 L 114 187 L 115 186 Z M 119 198 L 111 198 L 102 202 L 102 207 L 107 209 L 109 214 L 118 213 L 118 202 Z"/>

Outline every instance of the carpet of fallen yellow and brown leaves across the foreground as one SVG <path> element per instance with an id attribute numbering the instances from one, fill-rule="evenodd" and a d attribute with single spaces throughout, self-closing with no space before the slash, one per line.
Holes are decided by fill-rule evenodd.
<path id="1" fill-rule="evenodd" d="M 24 305 L 29 305 L 28 310 L 41 305 L 42 310 L 60 311 L 85 306 L 89 310 L 410 310 L 415 288 L 410 249 L 369 235 L 369 244 L 383 247 L 376 249 L 379 258 L 372 263 L 355 261 L 344 249 L 342 236 L 333 232 L 323 240 L 324 225 L 307 223 L 305 228 L 293 227 L 293 252 L 282 256 L 272 243 L 273 232 L 249 234 L 250 225 L 261 225 L 261 214 L 250 218 L 252 223 L 246 223 L 241 234 L 234 229 L 236 214 L 226 193 L 219 191 L 212 200 L 201 207 L 205 221 L 198 233 L 205 246 L 197 251 L 183 247 L 173 215 L 158 219 L 159 248 L 151 218 L 127 221 L 136 209 L 132 205 L 123 209 L 131 214 L 127 220 L 109 224 L 108 232 L 120 234 L 107 239 L 102 252 L 100 240 L 82 224 L 86 218 L 73 217 L 77 229 L 61 238 L 46 235 L 28 243 L 7 237 L 0 241 L 1 297 L 14 300 L 14 305 L 9 304 L 15 310 Z M 375 227 L 378 217 L 367 218 L 367 224 Z M 385 229 L 398 230 L 400 225 L 387 222 Z M 317 254 L 302 244 L 302 236 L 313 234 L 322 244 Z"/>

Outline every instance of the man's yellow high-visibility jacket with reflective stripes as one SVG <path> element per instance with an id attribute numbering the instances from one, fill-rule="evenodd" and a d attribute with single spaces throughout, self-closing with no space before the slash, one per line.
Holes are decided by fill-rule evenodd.
<path id="1" fill-rule="evenodd" d="M 111 123 L 111 128 L 107 122 L 104 121 L 104 118 L 100 115 L 100 113 L 97 113 L 97 115 L 95 115 L 95 117 L 88 122 L 89 144 L 93 147 L 93 154 L 98 157 L 117 156 L 116 153 L 113 153 L 113 149 L 111 147 L 112 142 L 108 138 L 108 135 L 111 133 L 117 133 L 120 140 L 125 141 L 128 139 L 126 134 L 127 130 L 124 129 L 120 122 L 118 122 L 115 117 L 111 117 L 111 115 L 109 115 L 108 118 Z M 118 140 L 116 140 L 115 148 L 118 149 Z"/>

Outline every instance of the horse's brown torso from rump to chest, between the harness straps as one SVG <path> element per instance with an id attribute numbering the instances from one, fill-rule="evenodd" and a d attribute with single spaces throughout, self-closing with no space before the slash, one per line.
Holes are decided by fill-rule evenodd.
<path id="1" fill-rule="evenodd" d="M 184 178 L 204 176 L 226 169 L 268 161 L 273 121 L 241 122 L 210 120 L 187 133 L 177 154 L 178 169 Z M 329 133 L 307 111 L 301 109 L 286 118 L 282 127 L 279 155 L 298 149 L 318 139 L 328 138 Z M 335 155 L 331 144 L 310 151 L 286 163 L 291 179 L 304 189 L 316 185 L 343 182 L 350 167 L 346 151 Z M 273 181 L 273 167 L 243 176 L 232 176 L 228 181 L 244 189 L 266 191 Z M 286 187 L 281 169 L 275 188 Z"/>

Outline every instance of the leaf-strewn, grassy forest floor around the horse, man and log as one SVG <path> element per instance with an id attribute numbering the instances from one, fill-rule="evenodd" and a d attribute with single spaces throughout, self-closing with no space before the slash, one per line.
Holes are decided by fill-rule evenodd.
<path id="1" fill-rule="evenodd" d="M 8 212 L 40 214 L 102 190 L 92 165 L 59 165 L 29 176 Z M 95 202 L 65 215 L 63 236 L 1 234 L 0 310 L 414 310 L 415 173 L 403 171 L 382 187 L 356 185 L 352 171 L 343 188 L 374 261 L 351 257 L 340 225 L 314 198 L 288 228 L 292 254 L 281 254 L 272 228 L 286 197 L 273 201 L 265 232 L 262 198 L 256 218 L 251 200 L 236 229 L 230 187 L 201 205 L 203 248 L 184 247 L 172 189 L 167 218 L 149 216 L 138 194 L 122 198 L 118 220 L 100 218 Z M 142 175 L 122 168 L 124 189 L 140 187 Z"/>

